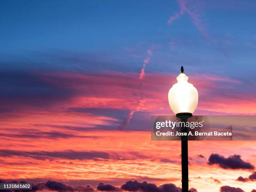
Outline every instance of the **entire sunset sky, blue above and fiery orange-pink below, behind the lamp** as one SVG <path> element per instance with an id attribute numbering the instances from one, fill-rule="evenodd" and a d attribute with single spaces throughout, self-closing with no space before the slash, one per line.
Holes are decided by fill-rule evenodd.
<path id="1" fill-rule="evenodd" d="M 199 93 L 194 115 L 256 114 L 255 6 L 1 1 L 0 179 L 179 192 L 180 142 L 151 141 L 151 115 L 174 115 L 167 95 L 181 66 Z M 255 146 L 189 141 L 189 188 L 254 192 Z"/>

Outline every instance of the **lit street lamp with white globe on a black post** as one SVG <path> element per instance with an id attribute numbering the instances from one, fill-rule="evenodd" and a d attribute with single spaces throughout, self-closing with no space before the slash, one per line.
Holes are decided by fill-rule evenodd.
<path id="1" fill-rule="evenodd" d="M 180 118 L 182 122 L 187 122 L 189 117 L 192 117 L 197 108 L 198 92 L 197 89 L 189 82 L 188 77 L 183 73 L 184 69 L 181 67 L 181 74 L 177 77 L 177 83 L 172 86 L 168 93 L 169 105 Z M 187 127 L 181 128 L 181 131 L 187 133 Z M 188 146 L 187 136 L 182 136 L 182 192 L 188 192 Z"/>

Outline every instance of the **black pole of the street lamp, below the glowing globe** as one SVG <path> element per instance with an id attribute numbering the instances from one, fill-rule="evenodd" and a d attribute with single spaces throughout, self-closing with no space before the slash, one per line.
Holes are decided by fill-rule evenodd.
<path id="1" fill-rule="evenodd" d="M 192 117 L 192 113 L 178 113 L 177 118 L 180 118 L 182 122 L 186 123 L 189 117 Z M 182 126 L 181 132 L 188 133 L 187 127 Z M 188 179 L 188 145 L 187 136 L 182 136 L 182 192 L 189 191 L 189 179 Z"/>

